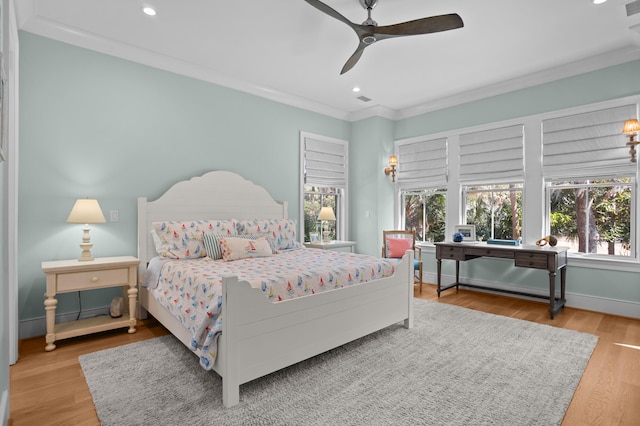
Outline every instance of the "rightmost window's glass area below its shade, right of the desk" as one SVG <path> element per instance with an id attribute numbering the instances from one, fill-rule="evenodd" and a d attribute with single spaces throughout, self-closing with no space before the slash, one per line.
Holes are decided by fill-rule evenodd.
<path id="1" fill-rule="evenodd" d="M 559 245 L 574 253 L 631 256 L 631 177 L 551 182 L 547 197 Z"/>

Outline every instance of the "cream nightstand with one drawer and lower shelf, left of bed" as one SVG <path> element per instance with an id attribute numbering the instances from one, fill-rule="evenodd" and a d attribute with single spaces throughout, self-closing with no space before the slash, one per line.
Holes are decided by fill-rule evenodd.
<path id="1" fill-rule="evenodd" d="M 137 268 L 140 260 L 132 256 L 102 257 L 90 261 L 59 260 L 42 262 L 42 271 L 47 275 L 47 292 L 44 309 L 47 314 L 45 350 L 56 348 L 56 340 L 83 336 L 115 328 L 129 327 L 136 332 Z M 129 299 L 128 310 L 120 318 L 109 315 L 86 318 L 56 324 L 55 296 L 58 293 L 93 290 L 107 287 L 122 287 Z"/>

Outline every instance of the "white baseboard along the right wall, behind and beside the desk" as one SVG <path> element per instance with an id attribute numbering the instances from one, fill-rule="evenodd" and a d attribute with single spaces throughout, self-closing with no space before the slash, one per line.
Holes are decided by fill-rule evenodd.
<path id="1" fill-rule="evenodd" d="M 423 274 L 423 280 L 425 280 L 425 282 L 435 283 L 438 281 L 438 276 L 434 273 Z M 464 279 L 462 280 L 464 282 Z M 455 282 L 455 276 L 442 275 L 442 282 L 453 283 Z M 512 284 L 478 280 L 475 278 L 469 282 L 473 282 L 473 284 L 481 285 L 484 287 L 495 288 L 496 290 L 523 291 L 523 292 L 532 293 L 532 294 L 539 294 L 540 296 L 548 295 L 547 292 L 539 288 L 515 286 Z M 473 288 L 469 288 L 469 290 L 484 291 L 484 290 L 473 289 Z M 518 296 L 513 294 L 509 294 L 509 296 L 540 301 L 540 299 L 529 298 L 526 296 Z M 606 297 L 591 296 L 587 294 L 570 293 L 570 292 L 567 292 L 565 296 L 567 298 L 567 303 L 565 306 L 568 306 L 568 307 L 585 309 L 587 311 L 601 312 L 604 314 L 619 315 L 623 317 L 640 319 L 640 303 L 638 302 L 609 299 Z"/>

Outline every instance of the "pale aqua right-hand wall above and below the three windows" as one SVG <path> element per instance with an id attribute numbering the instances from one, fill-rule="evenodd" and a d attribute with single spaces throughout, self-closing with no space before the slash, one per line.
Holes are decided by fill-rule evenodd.
<path id="1" fill-rule="evenodd" d="M 640 93 L 640 61 L 557 80 L 395 123 L 394 139 L 428 135 L 534 115 Z M 621 143 L 622 143 L 621 138 Z M 426 270 L 436 270 L 434 254 L 423 255 Z M 455 275 L 454 262 L 443 262 L 443 274 Z M 544 271 L 513 268 L 510 261 L 482 259 L 463 262 L 462 277 L 548 288 Z M 638 273 L 592 268 L 569 268 L 567 291 L 576 294 L 640 303 Z"/>

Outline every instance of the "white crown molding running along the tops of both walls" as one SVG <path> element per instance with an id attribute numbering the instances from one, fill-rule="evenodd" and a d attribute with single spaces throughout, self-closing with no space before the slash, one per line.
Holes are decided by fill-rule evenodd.
<path id="1" fill-rule="evenodd" d="M 147 49 L 141 49 L 97 34 L 71 28 L 59 22 L 44 19 L 38 16 L 34 2 L 18 1 L 16 5 L 18 25 L 23 31 L 348 122 L 360 121 L 371 117 L 382 117 L 393 121 L 403 120 L 455 105 L 473 102 L 640 59 L 640 38 L 632 37 L 627 46 L 597 56 L 534 72 L 526 76 L 502 81 L 475 90 L 451 93 L 450 96 L 443 98 L 425 100 L 421 104 L 403 108 L 402 110 L 394 110 L 383 105 L 376 105 L 358 111 L 344 111 L 314 102 L 310 99 L 221 75 L 210 68 L 198 64 L 179 60 Z M 632 26 L 630 29 L 640 32 L 640 27 L 636 27 L 638 26 Z M 632 31 L 632 33 L 635 35 L 634 31 Z"/>

